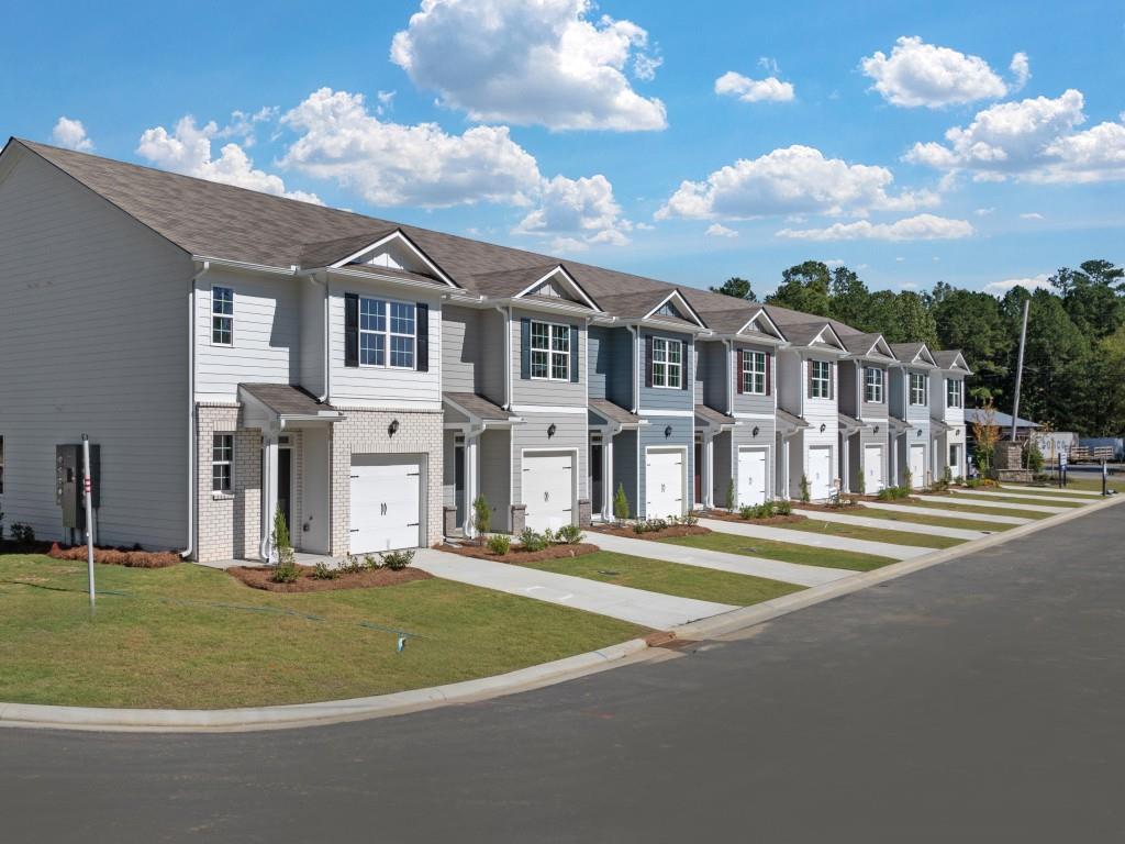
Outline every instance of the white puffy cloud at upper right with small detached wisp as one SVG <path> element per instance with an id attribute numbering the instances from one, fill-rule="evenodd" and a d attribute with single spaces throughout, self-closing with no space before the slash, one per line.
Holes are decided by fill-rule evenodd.
<path id="1" fill-rule="evenodd" d="M 899 38 L 889 56 L 876 51 L 861 60 L 860 68 L 874 80 L 873 87 L 884 100 L 907 108 L 942 108 L 996 99 L 1009 90 L 980 56 L 926 44 L 917 36 Z M 1018 89 L 1029 74 L 1024 53 L 1012 57 L 1011 70 Z"/>

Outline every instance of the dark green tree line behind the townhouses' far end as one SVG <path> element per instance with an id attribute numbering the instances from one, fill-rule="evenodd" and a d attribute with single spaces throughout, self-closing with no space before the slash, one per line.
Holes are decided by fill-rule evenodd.
<path id="1" fill-rule="evenodd" d="M 757 302 L 744 278 L 714 293 Z M 960 349 L 973 370 L 970 405 L 1011 411 L 1019 325 L 1030 300 L 1019 415 L 1083 437 L 1125 433 L 1125 270 L 1109 261 L 1061 268 L 1047 288 L 998 298 L 938 281 L 926 291 L 868 290 L 847 267 L 806 261 L 782 272 L 770 305 L 828 316 L 888 342 Z"/>

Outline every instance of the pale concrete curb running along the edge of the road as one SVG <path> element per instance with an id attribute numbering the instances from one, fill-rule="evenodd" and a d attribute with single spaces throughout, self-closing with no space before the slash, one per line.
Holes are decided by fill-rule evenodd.
<path id="1" fill-rule="evenodd" d="M 873 572 L 860 573 L 832 583 L 811 586 L 784 598 L 775 598 L 753 607 L 745 607 L 682 625 L 673 628 L 670 632 L 676 638 L 685 640 L 716 638 L 737 632 L 813 604 L 831 601 L 879 583 L 920 572 L 924 568 L 940 565 L 986 548 L 1004 545 L 1011 539 L 1056 527 L 1122 502 L 1125 502 L 1125 495 L 1110 496 L 1087 506 L 1076 508 L 1066 513 L 1058 513 L 924 557 L 893 563 Z M 507 674 L 435 685 L 429 689 L 321 703 L 292 703 L 241 709 L 102 709 L 0 702 L 0 727 L 130 733 L 242 733 L 385 718 L 407 712 L 420 712 L 451 703 L 474 703 L 531 691 L 650 658 L 656 655 L 650 648 L 650 639 L 654 645 L 657 644 L 651 636 L 630 639 L 601 650 L 591 650 L 555 662 L 532 665 Z"/>

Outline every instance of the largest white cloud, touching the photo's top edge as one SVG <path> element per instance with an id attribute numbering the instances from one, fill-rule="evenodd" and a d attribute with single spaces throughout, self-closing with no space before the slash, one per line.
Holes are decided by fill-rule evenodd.
<path id="1" fill-rule="evenodd" d="M 664 104 L 626 77 L 654 78 L 659 59 L 629 20 L 587 19 L 591 0 L 423 0 L 390 60 L 474 120 L 551 129 L 667 126 Z"/>

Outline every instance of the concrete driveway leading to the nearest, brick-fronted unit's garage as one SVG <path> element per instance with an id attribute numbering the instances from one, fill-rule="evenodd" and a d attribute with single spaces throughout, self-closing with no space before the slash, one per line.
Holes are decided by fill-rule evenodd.
<path id="1" fill-rule="evenodd" d="M 576 610 L 610 616 L 656 630 L 667 630 L 737 609 L 724 603 L 615 586 L 612 583 L 554 572 L 539 572 L 525 566 L 494 563 L 476 557 L 462 557 L 459 554 L 447 554 L 432 548 L 420 548 L 414 557 L 414 566 L 447 581 L 573 607 Z"/>

